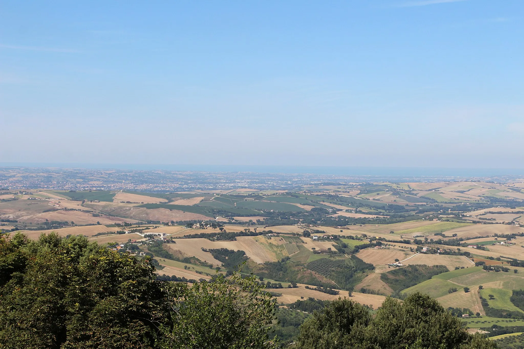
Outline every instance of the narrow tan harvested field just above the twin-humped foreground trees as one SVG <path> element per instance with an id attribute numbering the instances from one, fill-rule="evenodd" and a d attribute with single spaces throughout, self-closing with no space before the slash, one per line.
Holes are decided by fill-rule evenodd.
<path id="1" fill-rule="evenodd" d="M 304 288 L 305 285 L 298 284 L 298 288 L 281 288 L 276 289 L 275 292 L 281 293 L 282 296 L 277 297 L 277 302 L 282 302 L 284 304 L 291 304 L 294 303 L 297 300 L 300 300 L 300 297 L 304 297 L 304 299 L 307 299 L 308 297 L 313 297 L 320 300 L 334 300 L 338 299 L 339 297 L 344 298 L 348 296 L 347 291 L 339 290 L 340 295 L 328 295 L 324 292 L 315 291 L 315 290 L 308 290 Z M 354 300 L 361 304 L 367 304 L 370 306 L 373 306 L 374 309 L 377 309 L 382 305 L 386 297 L 384 296 L 378 296 L 378 295 L 368 295 L 368 294 L 362 294 L 359 292 L 353 292 L 353 296 L 350 297 L 351 300 Z"/>

